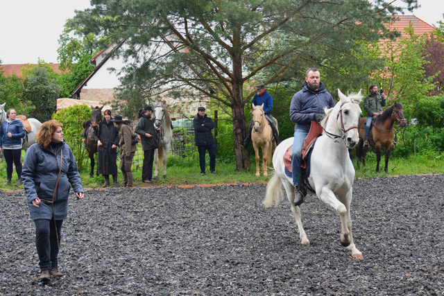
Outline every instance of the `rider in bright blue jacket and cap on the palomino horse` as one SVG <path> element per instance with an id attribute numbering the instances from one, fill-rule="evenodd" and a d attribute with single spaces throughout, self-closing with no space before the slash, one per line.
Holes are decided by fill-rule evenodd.
<path id="1" fill-rule="evenodd" d="M 253 101 L 251 103 L 255 104 L 255 106 L 260 106 L 264 104 L 265 118 L 268 123 L 270 123 L 271 130 L 273 130 L 273 137 L 276 141 L 276 145 L 279 145 L 278 129 L 276 128 L 275 121 L 271 116 L 271 110 L 273 109 L 273 98 L 271 97 L 271 94 L 268 94 L 268 92 L 266 92 L 264 82 L 257 83 L 256 91 L 257 94 L 255 94 L 255 96 L 253 97 Z M 248 147 L 248 145 L 250 144 L 253 125 L 253 121 L 250 121 L 250 126 L 248 127 L 246 138 L 241 143 L 242 147 Z"/>

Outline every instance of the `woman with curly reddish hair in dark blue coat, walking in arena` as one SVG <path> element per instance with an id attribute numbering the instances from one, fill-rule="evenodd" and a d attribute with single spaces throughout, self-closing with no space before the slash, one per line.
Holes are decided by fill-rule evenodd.
<path id="1" fill-rule="evenodd" d="M 43 123 L 36 143 L 26 151 L 23 165 L 22 181 L 35 224 L 40 281 L 63 275 L 58 271 L 58 250 L 62 223 L 68 214 L 69 189 L 72 186 L 77 198 L 84 196 L 76 159 L 63 139 L 62 127 L 54 119 Z"/>

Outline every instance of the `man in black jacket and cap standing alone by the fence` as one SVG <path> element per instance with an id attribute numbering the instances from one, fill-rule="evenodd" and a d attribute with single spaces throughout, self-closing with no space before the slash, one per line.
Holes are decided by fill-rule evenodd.
<path id="1" fill-rule="evenodd" d="M 200 175 L 205 175 L 205 151 L 210 155 L 210 172 L 216 173 L 216 142 L 212 129 L 216 124 L 205 114 L 205 107 L 198 107 L 193 119 L 194 140 L 199 152 Z"/>

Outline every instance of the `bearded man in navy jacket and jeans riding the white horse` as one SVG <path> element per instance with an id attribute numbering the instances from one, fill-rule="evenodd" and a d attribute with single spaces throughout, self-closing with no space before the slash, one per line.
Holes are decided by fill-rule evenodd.
<path id="1" fill-rule="evenodd" d="M 310 130 L 311 121 L 321 121 L 324 116 L 324 107 L 334 107 L 332 95 L 327 92 L 321 82 L 321 73 L 316 68 L 310 68 L 305 73 L 302 89 L 291 99 L 290 118 L 295 124 L 293 150 L 291 152 L 291 171 L 293 185 L 296 187 L 294 204 L 304 202 L 304 196 L 298 189 L 300 179 L 300 165 L 302 162 L 302 146 Z"/>

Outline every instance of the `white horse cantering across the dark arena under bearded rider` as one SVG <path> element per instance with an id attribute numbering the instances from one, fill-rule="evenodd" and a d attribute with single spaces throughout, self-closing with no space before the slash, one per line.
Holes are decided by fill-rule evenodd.
<path id="1" fill-rule="evenodd" d="M 308 177 L 311 189 L 325 204 L 333 207 L 341 218 L 341 244 L 347 247 L 355 259 L 364 259 L 355 247 L 352 236 L 352 220 L 350 204 L 352 202 L 352 184 L 355 179 L 355 168 L 348 155 L 348 148 L 359 143 L 357 124 L 361 117 L 361 92 L 349 97 L 339 91 L 340 101 L 336 106 L 326 111 L 321 122 L 323 134 L 318 137 L 311 153 L 310 173 Z M 307 234 L 300 220 L 300 206 L 293 204 L 295 187 L 291 177 L 285 173 L 284 153 L 293 143 L 293 138 L 279 144 L 273 155 L 275 172 L 266 186 L 266 197 L 263 204 L 271 207 L 282 200 L 282 184 L 291 204 L 291 211 L 296 220 L 302 245 L 309 245 Z M 291 174 L 290 174 L 291 175 Z M 311 191 L 310 191 L 311 192 Z"/>

